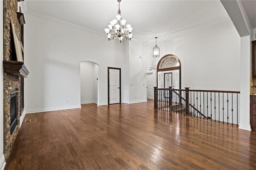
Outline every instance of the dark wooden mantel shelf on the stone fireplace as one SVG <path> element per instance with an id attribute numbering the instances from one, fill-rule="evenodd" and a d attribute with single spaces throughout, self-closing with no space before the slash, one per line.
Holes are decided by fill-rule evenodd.
<path id="1" fill-rule="evenodd" d="M 15 75 L 17 77 L 27 78 L 29 71 L 21 61 L 3 61 L 4 72 Z"/>

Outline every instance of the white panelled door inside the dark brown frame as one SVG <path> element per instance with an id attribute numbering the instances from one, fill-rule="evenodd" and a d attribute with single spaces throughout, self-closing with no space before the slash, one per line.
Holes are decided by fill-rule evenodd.
<path id="1" fill-rule="evenodd" d="M 109 104 L 120 103 L 120 70 L 109 69 Z"/>

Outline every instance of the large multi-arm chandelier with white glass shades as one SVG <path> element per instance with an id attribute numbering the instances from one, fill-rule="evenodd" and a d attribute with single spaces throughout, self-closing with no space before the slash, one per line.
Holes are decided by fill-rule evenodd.
<path id="1" fill-rule="evenodd" d="M 125 25 L 126 20 L 122 20 L 120 11 L 121 0 L 117 1 L 119 5 L 116 19 L 110 21 L 110 24 L 108 25 L 108 28 L 105 29 L 105 32 L 108 40 L 114 40 L 115 37 L 118 37 L 121 43 L 123 38 L 125 38 L 126 40 L 132 39 L 132 27 L 130 24 Z"/>

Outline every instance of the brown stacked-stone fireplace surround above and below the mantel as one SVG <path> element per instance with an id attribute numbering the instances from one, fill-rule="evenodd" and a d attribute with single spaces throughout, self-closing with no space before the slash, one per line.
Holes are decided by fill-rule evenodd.
<path id="1" fill-rule="evenodd" d="M 11 20 L 14 24 L 14 28 L 20 36 L 20 24 L 17 19 L 17 0 L 4 0 L 3 1 L 3 22 L 4 22 L 4 51 L 3 51 L 3 61 L 17 61 L 14 40 L 12 37 Z M 20 127 L 20 77 L 11 75 L 9 73 L 3 73 L 4 76 L 4 156 L 7 160 L 14 140 L 19 131 Z M 10 134 L 10 95 L 12 90 L 17 90 L 17 126 L 14 129 L 12 135 Z"/>

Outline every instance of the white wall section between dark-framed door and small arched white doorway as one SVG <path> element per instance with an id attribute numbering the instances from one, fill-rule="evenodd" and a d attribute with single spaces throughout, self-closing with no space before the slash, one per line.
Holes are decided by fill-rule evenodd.
<path id="1" fill-rule="evenodd" d="M 142 55 L 142 43 L 131 41 L 129 45 L 129 103 L 146 101 L 146 56 Z"/>

